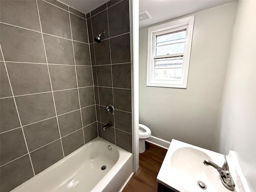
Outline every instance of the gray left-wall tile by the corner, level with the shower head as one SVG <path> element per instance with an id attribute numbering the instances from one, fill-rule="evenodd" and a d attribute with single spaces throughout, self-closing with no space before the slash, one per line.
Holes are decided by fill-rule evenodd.
<path id="1" fill-rule="evenodd" d="M 86 19 L 70 14 L 73 40 L 88 43 Z"/>

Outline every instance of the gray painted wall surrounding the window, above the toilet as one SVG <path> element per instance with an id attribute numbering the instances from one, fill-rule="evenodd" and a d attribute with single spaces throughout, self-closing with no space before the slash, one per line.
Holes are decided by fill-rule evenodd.
<path id="1" fill-rule="evenodd" d="M 214 135 L 235 13 L 236 2 L 193 14 L 187 89 L 146 86 L 148 27 L 151 26 L 140 29 L 139 120 L 151 129 L 152 136 L 218 149 Z M 169 21 L 172 20 L 166 22 Z"/>

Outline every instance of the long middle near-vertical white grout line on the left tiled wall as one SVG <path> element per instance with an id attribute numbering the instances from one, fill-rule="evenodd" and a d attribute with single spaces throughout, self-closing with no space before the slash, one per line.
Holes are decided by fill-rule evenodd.
<path id="1" fill-rule="evenodd" d="M 43 35 L 43 30 L 42 30 L 41 19 L 40 19 L 40 14 L 39 14 L 38 2 L 37 1 L 38 0 L 36 0 L 36 6 L 37 6 L 37 11 L 38 11 L 38 17 L 39 17 L 39 23 L 40 23 L 40 28 L 41 28 L 42 40 L 43 40 L 43 44 L 44 44 L 44 35 Z M 52 90 L 52 99 L 53 99 L 53 104 L 54 104 L 54 109 L 55 109 L 55 115 L 56 115 L 56 120 L 57 120 L 57 124 L 58 124 L 58 130 L 59 130 L 59 134 L 60 134 L 60 125 L 59 125 L 59 121 L 58 121 L 58 117 L 57 117 L 57 110 L 56 110 L 56 104 L 55 104 L 55 100 L 54 100 L 54 94 L 53 94 L 53 89 L 52 89 L 52 80 L 51 80 L 51 76 L 50 76 L 50 70 L 49 70 L 48 59 L 47 59 L 47 55 L 46 55 L 45 44 L 44 44 L 44 53 L 45 53 L 45 57 L 46 57 L 46 63 L 47 63 L 47 68 L 48 68 L 48 75 L 49 75 L 50 85 L 51 85 L 51 90 Z M 60 143 L 61 143 L 62 153 L 63 153 L 63 158 L 64 158 L 65 155 L 64 155 L 64 149 L 63 149 L 61 134 L 60 134 Z"/>

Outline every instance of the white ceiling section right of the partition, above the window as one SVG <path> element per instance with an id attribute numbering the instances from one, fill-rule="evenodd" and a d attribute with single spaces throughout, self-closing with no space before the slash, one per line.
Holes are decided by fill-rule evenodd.
<path id="1" fill-rule="evenodd" d="M 234 0 L 140 0 L 139 12 L 147 11 L 151 19 L 140 21 L 139 27 L 206 10 Z"/>

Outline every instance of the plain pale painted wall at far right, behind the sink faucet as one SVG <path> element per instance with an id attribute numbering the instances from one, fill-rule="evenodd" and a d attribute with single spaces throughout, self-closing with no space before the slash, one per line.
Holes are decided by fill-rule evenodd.
<path id="1" fill-rule="evenodd" d="M 256 2 L 238 1 L 220 108 L 218 150 L 234 150 L 256 191 Z"/>

